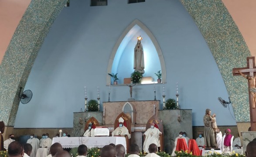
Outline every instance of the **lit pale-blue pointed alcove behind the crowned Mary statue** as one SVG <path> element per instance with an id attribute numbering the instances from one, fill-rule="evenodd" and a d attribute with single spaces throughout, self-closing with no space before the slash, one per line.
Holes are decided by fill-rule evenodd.
<path id="1" fill-rule="evenodd" d="M 116 42 L 109 58 L 107 73 L 118 73 L 117 77 L 121 84 L 123 83 L 123 78 L 130 77 L 130 74 L 134 71 L 133 50 L 137 43 L 137 36 L 139 35 L 144 38 L 141 41 L 144 49 L 145 62 L 145 73 L 143 77 L 152 77 L 156 81 L 157 76 L 154 73 L 161 70 L 162 82 L 166 82 L 165 62 L 160 46 L 151 31 L 137 19 L 126 27 Z M 111 83 L 111 77 L 107 75 L 106 80 L 106 83 L 109 85 Z"/>

